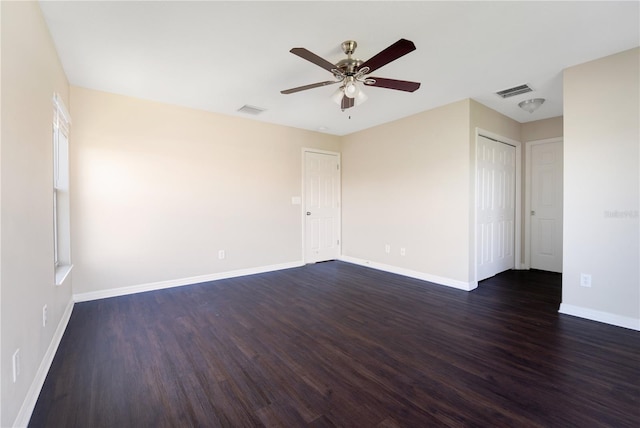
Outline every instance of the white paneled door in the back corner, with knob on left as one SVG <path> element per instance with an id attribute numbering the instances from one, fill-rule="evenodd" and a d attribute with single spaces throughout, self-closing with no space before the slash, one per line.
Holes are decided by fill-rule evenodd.
<path id="1" fill-rule="evenodd" d="M 305 262 L 340 256 L 340 158 L 304 152 Z"/>

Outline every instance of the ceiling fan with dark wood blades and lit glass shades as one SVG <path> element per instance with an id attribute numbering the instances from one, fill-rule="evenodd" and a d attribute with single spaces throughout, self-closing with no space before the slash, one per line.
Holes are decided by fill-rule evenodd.
<path id="1" fill-rule="evenodd" d="M 312 83 L 310 85 L 298 86 L 297 88 L 285 89 L 284 91 L 280 91 L 280 93 L 293 94 L 307 89 L 340 83 L 340 88 L 336 91 L 333 98 L 340 104 L 342 110 L 345 110 L 355 106 L 356 103 L 362 103 L 366 99 L 366 95 L 360 89 L 358 83 L 365 86 L 376 86 L 378 88 L 395 89 L 406 92 L 414 92 L 420 87 L 420 83 L 418 82 L 369 76 L 369 73 L 372 73 L 380 67 L 389 64 L 391 61 L 395 61 L 401 56 L 414 51 L 416 46 L 413 42 L 406 39 L 400 39 L 367 61 L 361 61 L 352 57 L 357 46 L 358 44 L 353 40 L 343 42 L 342 50 L 347 55 L 347 58 L 338 61 L 336 64 L 330 63 L 305 48 L 291 49 L 289 52 L 292 54 L 306 59 L 307 61 L 312 62 L 333 74 L 335 80 L 327 80 L 325 82 Z"/>

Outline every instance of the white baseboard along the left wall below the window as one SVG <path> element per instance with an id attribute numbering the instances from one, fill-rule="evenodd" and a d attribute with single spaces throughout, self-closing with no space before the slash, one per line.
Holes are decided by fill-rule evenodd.
<path id="1" fill-rule="evenodd" d="M 42 358 L 42 362 L 40 363 L 40 367 L 38 367 L 36 376 L 33 379 L 33 382 L 31 382 L 31 386 L 27 391 L 27 396 L 22 402 L 22 406 L 20 407 L 18 416 L 13 423 L 14 427 L 26 427 L 27 425 L 29 425 L 31 414 L 33 413 L 33 409 L 35 409 L 36 407 L 38 397 L 40 396 L 40 391 L 44 386 L 44 381 L 46 380 L 49 369 L 51 368 L 51 364 L 53 363 L 53 358 L 58 351 L 58 346 L 60 346 L 62 336 L 64 335 L 64 332 L 67 329 L 67 325 L 69 324 L 69 320 L 71 319 L 73 305 L 73 299 L 69 300 L 69 304 L 67 304 L 67 307 L 62 314 L 62 319 L 60 319 L 58 327 L 56 327 L 56 331 L 55 333 L 53 333 L 53 337 L 51 338 L 51 343 L 47 348 L 47 352 L 45 352 L 44 357 Z"/>

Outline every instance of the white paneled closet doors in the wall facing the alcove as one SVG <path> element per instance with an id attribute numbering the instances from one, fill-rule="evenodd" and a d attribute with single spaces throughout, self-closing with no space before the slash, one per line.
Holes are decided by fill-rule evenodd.
<path id="1" fill-rule="evenodd" d="M 478 136 L 477 280 L 515 266 L 516 148 Z"/>

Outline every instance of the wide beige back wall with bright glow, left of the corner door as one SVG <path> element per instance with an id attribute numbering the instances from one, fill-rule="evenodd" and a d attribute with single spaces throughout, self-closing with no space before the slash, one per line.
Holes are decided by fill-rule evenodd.
<path id="1" fill-rule="evenodd" d="M 71 115 L 74 293 L 302 263 L 302 148 L 338 137 L 77 87 Z"/>

